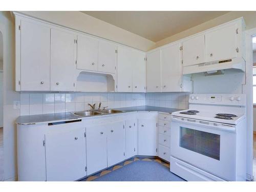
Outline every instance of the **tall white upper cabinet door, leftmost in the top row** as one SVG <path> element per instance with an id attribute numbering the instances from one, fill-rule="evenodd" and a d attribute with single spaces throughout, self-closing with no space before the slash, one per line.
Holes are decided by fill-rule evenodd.
<path id="1" fill-rule="evenodd" d="M 21 20 L 21 91 L 50 90 L 50 28 Z"/>

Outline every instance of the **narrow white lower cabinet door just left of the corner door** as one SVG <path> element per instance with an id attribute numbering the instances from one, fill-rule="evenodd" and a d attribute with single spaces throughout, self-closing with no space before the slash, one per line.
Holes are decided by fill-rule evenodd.
<path id="1" fill-rule="evenodd" d="M 125 121 L 125 158 L 137 155 L 137 120 Z"/>

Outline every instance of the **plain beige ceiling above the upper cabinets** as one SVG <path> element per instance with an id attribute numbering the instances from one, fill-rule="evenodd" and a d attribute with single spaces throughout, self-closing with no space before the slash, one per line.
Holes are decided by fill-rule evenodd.
<path id="1" fill-rule="evenodd" d="M 228 11 L 81 11 L 157 42 Z"/>

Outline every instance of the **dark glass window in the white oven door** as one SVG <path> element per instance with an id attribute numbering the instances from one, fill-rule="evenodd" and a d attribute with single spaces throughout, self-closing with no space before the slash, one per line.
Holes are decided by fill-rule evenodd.
<path id="1" fill-rule="evenodd" d="M 220 160 L 220 135 L 180 126 L 180 146 Z"/>

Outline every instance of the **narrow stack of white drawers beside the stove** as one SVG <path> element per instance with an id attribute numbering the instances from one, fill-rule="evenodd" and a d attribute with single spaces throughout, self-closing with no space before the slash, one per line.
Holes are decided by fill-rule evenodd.
<path id="1" fill-rule="evenodd" d="M 170 119 L 171 115 L 159 113 L 158 156 L 170 161 Z"/>

